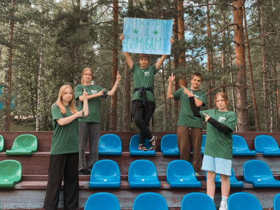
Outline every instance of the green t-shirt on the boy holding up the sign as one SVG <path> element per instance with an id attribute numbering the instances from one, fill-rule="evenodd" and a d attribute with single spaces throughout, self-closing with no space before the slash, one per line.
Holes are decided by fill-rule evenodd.
<path id="1" fill-rule="evenodd" d="M 155 65 L 150 66 L 147 69 L 140 69 L 139 66 L 133 64 L 132 75 L 134 79 L 134 88 L 153 87 L 153 80 L 156 72 L 157 69 L 155 69 Z M 146 90 L 146 99 L 147 102 L 155 103 L 155 98 L 153 97 L 153 93 L 151 91 Z M 141 97 L 139 96 L 139 90 L 134 92 L 132 102 L 134 100 L 141 100 Z"/>

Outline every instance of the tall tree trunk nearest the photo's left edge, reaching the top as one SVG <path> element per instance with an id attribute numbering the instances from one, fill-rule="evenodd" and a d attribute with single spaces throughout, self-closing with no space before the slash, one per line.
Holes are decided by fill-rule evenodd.
<path id="1" fill-rule="evenodd" d="M 3 103 L 3 124 L 2 130 L 10 130 L 10 104 L 12 100 L 12 62 L 13 62 L 13 28 L 14 28 L 14 16 L 15 16 L 15 1 L 12 1 L 10 12 L 10 34 L 9 34 L 9 47 L 8 47 L 8 67 L 5 75 L 5 88 L 4 98 L 6 101 Z"/>

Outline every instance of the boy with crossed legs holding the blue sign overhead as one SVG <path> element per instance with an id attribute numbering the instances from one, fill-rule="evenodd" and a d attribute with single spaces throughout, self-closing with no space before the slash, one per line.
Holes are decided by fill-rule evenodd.
<path id="1" fill-rule="evenodd" d="M 125 36 L 120 35 L 120 40 L 123 42 Z M 174 39 L 171 38 L 171 43 Z M 124 52 L 127 65 L 132 70 L 134 78 L 134 94 L 132 97 L 132 117 L 134 123 L 139 127 L 139 151 L 148 151 L 144 146 L 145 139 L 149 139 L 151 147 L 150 150 L 154 151 L 156 146 L 157 137 L 151 134 L 148 125 L 155 111 L 155 97 L 153 95 L 153 81 L 155 73 L 160 69 L 167 55 L 162 55 L 158 62 L 153 66 L 148 67 L 149 57 L 148 54 L 139 54 L 139 66 L 134 64 L 129 52 Z"/>

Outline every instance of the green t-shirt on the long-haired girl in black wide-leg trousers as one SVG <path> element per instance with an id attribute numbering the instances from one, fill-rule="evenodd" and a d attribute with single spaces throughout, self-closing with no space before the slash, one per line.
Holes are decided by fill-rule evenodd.
<path id="1" fill-rule="evenodd" d="M 78 119 L 73 120 L 67 125 L 59 125 L 57 119 L 72 116 L 69 106 L 66 106 L 66 113 L 63 115 L 59 106 L 52 106 L 52 126 L 54 132 L 52 134 L 52 147 L 50 155 L 78 153 Z"/>

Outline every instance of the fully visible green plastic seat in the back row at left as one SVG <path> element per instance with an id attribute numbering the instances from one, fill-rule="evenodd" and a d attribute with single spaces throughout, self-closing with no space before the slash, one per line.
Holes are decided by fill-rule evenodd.
<path id="1" fill-rule="evenodd" d="M 22 134 L 15 138 L 13 146 L 6 155 L 32 155 L 37 151 L 38 141 L 34 135 Z"/>

